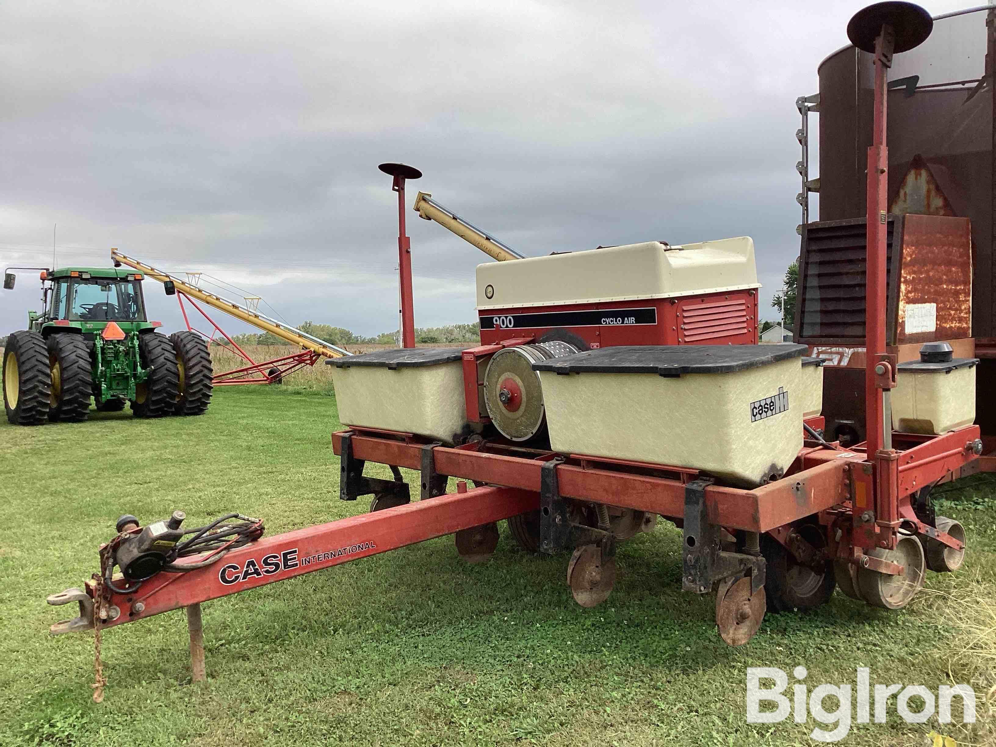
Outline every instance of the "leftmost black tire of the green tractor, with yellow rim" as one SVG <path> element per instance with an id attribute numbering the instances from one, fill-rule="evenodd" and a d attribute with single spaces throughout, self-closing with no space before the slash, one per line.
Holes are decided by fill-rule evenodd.
<path id="1" fill-rule="evenodd" d="M 8 366 L 17 366 L 18 384 L 14 397 L 8 397 Z M 3 351 L 3 403 L 12 425 L 41 425 L 48 419 L 52 374 L 45 339 L 37 332 L 13 332 Z M 12 392 L 13 393 L 13 392 Z M 13 398 L 13 406 L 11 399 Z"/>

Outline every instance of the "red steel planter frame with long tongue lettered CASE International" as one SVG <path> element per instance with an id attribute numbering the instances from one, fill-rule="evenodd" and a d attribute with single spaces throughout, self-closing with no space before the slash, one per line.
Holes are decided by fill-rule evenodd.
<path id="1" fill-rule="evenodd" d="M 348 432 L 353 434 L 356 459 L 409 469 L 420 467 L 426 443 L 423 438 L 387 431 L 343 431 L 332 435 L 337 454 L 342 453 L 343 435 Z M 971 444 L 978 437 L 978 426 L 970 425 L 940 436 L 909 438 L 904 444 L 908 448 L 897 452 L 898 458 L 891 462 L 894 479 L 890 484 L 902 498 L 896 505 L 902 523 L 916 531 L 927 530 L 912 512 L 910 494 L 977 459 Z M 159 574 L 137 592 L 107 595 L 100 605 L 107 616 L 101 626 L 142 620 L 535 510 L 539 507 L 541 469 L 556 456 L 560 455 L 482 443 L 436 446 L 432 450 L 436 473 L 489 486 L 466 490 L 464 483 L 456 493 L 264 538 L 232 551 L 207 568 L 186 574 Z M 819 515 L 822 524 L 837 523 L 846 534 L 832 545 L 833 555 L 871 564 L 884 573 L 898 573 L 898 566 L 862 552 L 887 544 L 886 527 L 872 524 L 871 531 L 852 533 L 849 522 L 840 523 L 842 517 L 850 516 L 853 506 L 871 508 L 870 499 L 879 504 L 879 510 L 884 508 L 880 504 L 889 496 L 875 493 L 875 485 L 865 473 L 867 465 L 860 449 L 805 448 L 794 465 L 796 471 L 776 482 L 753 490 L 707 487 L 709 522 L 728 530 L 767 532 L 784 540 L 787 528 L 794 522 Z M 698 476 L 694 469 L 584 455 L 568 456 L 555 469 L 559 492 L 565 498 L 672 519 L 682 517 L 685 486 Z M 957 540 L 930 530 L 931 536 L 940 541 L 961 547 Z M 184 562 L 195 563 L 207 557 Z M 93 582 L 88 583 L 87 593 L 95 595 Z M 85 620 L 93 622 L 93 608 L 84 608 L 81 603 Z"/>

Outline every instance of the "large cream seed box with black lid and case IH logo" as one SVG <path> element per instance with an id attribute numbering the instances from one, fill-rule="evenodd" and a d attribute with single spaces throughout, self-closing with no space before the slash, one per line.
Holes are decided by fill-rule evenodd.
<path id="1" fill-rule="evenodd" d="M 622 346 L 534 364 L 554 450 L 754 487 L 803 446 L 802 345 Z"/>

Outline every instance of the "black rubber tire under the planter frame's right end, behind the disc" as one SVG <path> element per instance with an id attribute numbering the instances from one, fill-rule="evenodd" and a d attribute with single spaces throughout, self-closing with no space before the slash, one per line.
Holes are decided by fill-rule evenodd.
<path id="1" fill-rule="evenodd" d="M 826 546 L 826 538 L 818 524 L 804 524 L 796 531 L 814 547 Z M 782 543 L 768 535 L 761 536 L 761 555 L 767 564 L 764 589 L 770 612 L 809 611 L 830 602 L 837 586 L 833 561 L 824 563 L 821 576 L 800 565 Z"/>

